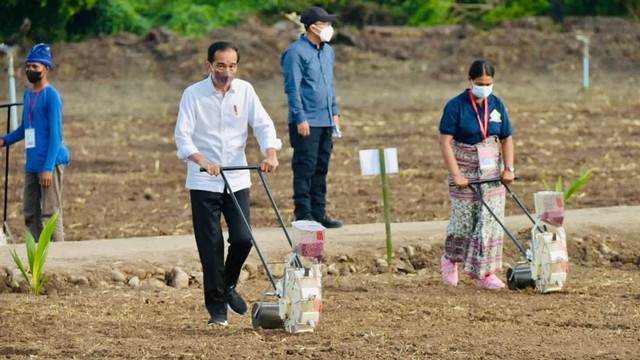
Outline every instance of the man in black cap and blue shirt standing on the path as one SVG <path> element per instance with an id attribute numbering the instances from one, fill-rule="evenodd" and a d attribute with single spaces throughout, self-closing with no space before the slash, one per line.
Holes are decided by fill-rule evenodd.
<path id="1" fill-rule="evenodd" d="M 327 228 L 342 221 L 326 213 L 327 172 L 339 134 L 340 117 L 333 82 L 335 53 L 328 44 L 336 15 L 313 6 L 302 12 L 306 32 L 282 54 L 284 91 L 289 105 L 289 140 L 293 147 L 293 200 L 296 220 L 315 220 Z"/>

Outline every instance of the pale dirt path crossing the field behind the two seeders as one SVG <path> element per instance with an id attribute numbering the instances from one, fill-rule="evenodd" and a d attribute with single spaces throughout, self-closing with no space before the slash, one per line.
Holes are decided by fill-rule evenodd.
<path id="1" fill-rule="evenodd" d="M 579 229 L 602 227 L 619 231 L 640 230 L 637 217 L 640 206 L 620 206 L 567 211 L 565 228 L 571 236 Z M 446 221 L 393 223 L 392 240 L 396 248 L 404 245 L 439 244 L 446 229 Z M 524 216 L 507 217 L 507 228 L 517 232 L 530 227 Z M 640 231 L 635 232 L 636 234 Z M 287 252 L 287 242 L 280 228 L 258 228 L 254 236 L 266 257 Z M 385 226 L 379 224 L 347 225 L 327 232 L 327 255 L 382 254 L 385 249 Z M 640 240 L 627 239 L 627 240 Z M 569 239 L 571 241 L 571 239 Z M 506 246 L 510 246 L 507 244 Z M 18 246 L 24 257 L 24 247 Z M 255 251 L 250 261 L 257 261 Z M 127 239 L 86 240 L 52 243 L 49 250 L 49 271 L 101 270 L 116 264 L 157 263 L 184 264 L 197 262 L 197 250 L 192 235 L 157 236 Z M 0 251 L 0 265 L 10 266 L 13 260 L 8 251 Z M 192 264 L 193 265 L 193 264 Z"/>

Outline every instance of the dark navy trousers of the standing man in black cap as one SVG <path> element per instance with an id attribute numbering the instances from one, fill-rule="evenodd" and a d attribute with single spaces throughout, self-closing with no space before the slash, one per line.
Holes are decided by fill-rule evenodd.
<path id="1" fill-rule="evenodd" d="M 293 147 L 294 215 L 297 219 L 321 217 L 327 207 L 327 172 L 333 150 L 331 127 L 311 127 L 311 134 L 302 137 L 295 123 L 289 124 L 289 140 Z"/>

